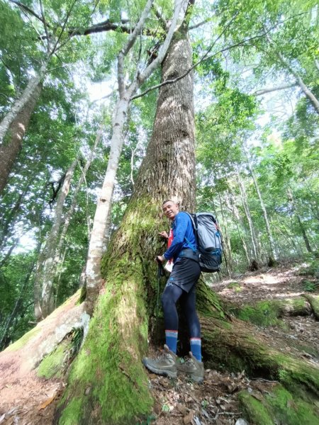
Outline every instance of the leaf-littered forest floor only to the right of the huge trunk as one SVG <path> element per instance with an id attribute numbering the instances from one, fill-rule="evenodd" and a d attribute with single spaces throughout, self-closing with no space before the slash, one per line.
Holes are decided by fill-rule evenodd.
<path id="1" fill-rule="evenodd" d="M 211 288 L 223 300 L 237 307 L 262 300 L 298 297 L 307 293 L 306 289 L 313 288 L 315 283 L 313 276 L 300 274 L 302 268 L 303 264 L 291 263 L 262 268 L 238 278 L 213 283 Z M 318 288 L 311 293 L 318 295 Z M 269 336 L 278 348 L 285 340 L 290 342 L 289 346 L 291 341 L 296 343 L 296 347 L 299 344 L 310 346 L 313 354 L 293 347 L 291 350 L 319 365 L 318 320 L 308 315 L 284 316 L 281 320 L 284 325 L 281 322 L 280 327 L 259 327 L 259 331 Z M 255 398 L 262 399 L 262 394 L 272 392 L 276 381 L 248 378 L 245 370 L 237 373 L 206 370 L 202 384 L 191 383 L 181 375 L 173 381 L 153 374 L 150 374 L 150 384 L 156 399 L 152 425 L 247 425 L 240 412 L 237 393 L 248 390 Z"/>

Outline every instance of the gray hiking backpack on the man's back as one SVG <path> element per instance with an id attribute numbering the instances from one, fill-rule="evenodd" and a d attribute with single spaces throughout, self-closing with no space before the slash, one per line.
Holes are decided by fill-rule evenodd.
<path id="1" fill-rule="evenodd" d="M 223 239 L 216 218 L 211 212 L 187 212 L 193 223 L 199 251 L 201 271 L 214 273 L 220 271 L 223 254 Z"/>

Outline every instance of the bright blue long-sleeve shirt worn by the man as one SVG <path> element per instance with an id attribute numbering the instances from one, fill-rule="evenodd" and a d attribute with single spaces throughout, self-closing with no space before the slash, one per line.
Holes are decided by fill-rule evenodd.
<path id="1" fill-rule="evenodd" d="M 172 222 L 172 229 L 172 245 L 164 252 L 164 258 L 176 261 L 182 249 L 196 249 L 197 246 L 191 218 L 186 212 L 181 211 L 175 216 Z M 186 239 L 189 242 L 186 242 Z"/>

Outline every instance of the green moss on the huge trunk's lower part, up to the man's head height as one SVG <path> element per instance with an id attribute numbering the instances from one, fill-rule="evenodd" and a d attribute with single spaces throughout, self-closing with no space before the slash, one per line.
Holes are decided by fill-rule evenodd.
<path id="1" fill-rule="evenodd" d="M 158 244 L 162 228 L 150 204 L 142 216 L 140 206 L 130 211 L 116 244 L 110 244 L 109 256 L 103 258 L 105 293 L 99 297 L 89 334 L 69 373 L 59 424 L 135 423 L 135 418 L 152 409 L 141 360 L 147 352 L 148 317 L 156 305 L 157 266 L 150 257 L 154 254 L 145 253 L 143 240 L 152 237 Z"/>

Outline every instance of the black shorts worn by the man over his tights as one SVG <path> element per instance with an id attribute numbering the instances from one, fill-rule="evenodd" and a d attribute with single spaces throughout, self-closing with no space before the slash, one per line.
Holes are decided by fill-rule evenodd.
<path id="1" fill-rule="evenodd" d="M 166 285 L 177 285 L 189 293 L 196 285 L 199 276 L 201 276 L 201 268 L 197 261 L 186 258 L 177 259 Z"/>

